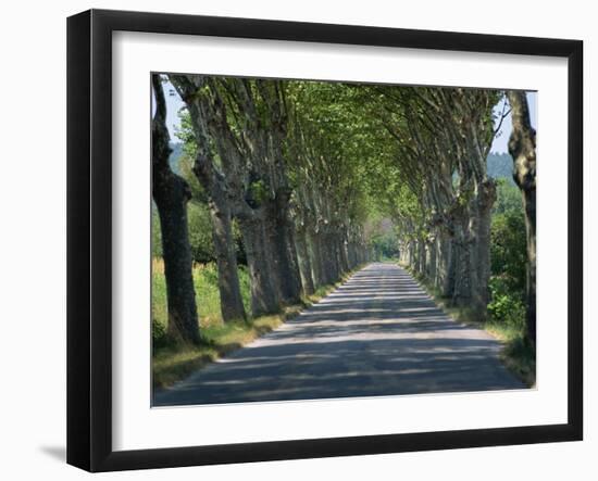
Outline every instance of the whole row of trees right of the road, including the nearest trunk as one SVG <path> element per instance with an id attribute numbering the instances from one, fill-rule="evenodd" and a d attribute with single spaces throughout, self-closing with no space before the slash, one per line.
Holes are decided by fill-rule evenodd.
<path id="1" fill-rule="evenodd" d="M 496 181 L 486 160 L 510 104 L 509 151 L 525 212 L 526 328 L 535 343 L 535 131 L 525 92 L 482 89 L 377 88 L 381 124 L 395 139 L 391 170 L 399 179 L 385 205 L 400 232 L 401 261 L 453 305 L 487 315 L 490 219 Z M 497 102 L 504 109 L 495 128 Z M 391 102 L 388 102 L 391 99 Z M 388 176 L 385 169 L 379 174 Z"/>

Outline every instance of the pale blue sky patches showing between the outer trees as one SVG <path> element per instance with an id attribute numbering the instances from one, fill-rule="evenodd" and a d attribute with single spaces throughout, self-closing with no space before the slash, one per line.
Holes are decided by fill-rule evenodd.
<path id="1" fill-rule="evenodd" d="M 171 83 L 164 84 L 164 94 L 166 97 L 166 125 L 169 127 L 169 132 L 171 135 L 172 142 L 178 142 L 176 137 L 176 129 L 180 125 L 178 118 L 178 111 L 184 106 L 183 100 L 178 97 L 178 93 L 174 89 Z M 530 105 L 530 117 L 532 121 L 532 127 L 537 130 L 537 92 L 527 92 L 527 103 Z M 502 112 L 503 101 L 500 101 L 496 107 L 495 112 L 500 114 Z M 498 126 L 499 119 L 496 119 L 495 128 Z M 511 135 L 512 129 L 511 115 L 508 115 L 500 127 L 500 131 L 497 137 L 495 137 L 490 152 L 494 153 L 508 153 L 507 143 L 509 142 L 509 136 Z"/>

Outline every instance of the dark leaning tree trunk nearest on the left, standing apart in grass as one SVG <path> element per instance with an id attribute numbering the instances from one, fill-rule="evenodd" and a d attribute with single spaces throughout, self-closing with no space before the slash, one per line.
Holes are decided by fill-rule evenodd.
<path id="1" fill-rule="evenodd" d="M 170 135 L 166 128 L 166 102 L 159 74 L 152 75 L 155 114 L 152 134 L 152 197 L 160 216 L 162 253 L 169 307 L 169 334 L 178 342 L 200 341 L 197 315 L 191 249 L 187 226 L 187 182 L 169 165 Z"/>

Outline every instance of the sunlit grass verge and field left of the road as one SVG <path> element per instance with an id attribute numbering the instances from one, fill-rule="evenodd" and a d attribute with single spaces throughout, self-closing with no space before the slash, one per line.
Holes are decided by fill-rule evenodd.
<path id="1" fill-rule="evenodd" d="M 356 269 L 357 270 L 357 269 Z M 152 383 L 165 388 L 186 378 L 195 370 L 220 357 L 242 347 L 254 339 L 276 329 L 285 320 L 297 316 L 303 308 L 325 298 L 352 273 L 342 276 L 339 282 L 319 288 L 304 295 L 300 304 L 285 306 L 281 313 L 250 318 L 247 322 L 223 322 L 220 312 L 217 270 L 215 265 L 194 265 L 194 283 L 199 311 L 202 342 L 199 345 L 173 342 L 166 334 L 167 306 L 164 263 L 152 261 Z M 246 311 L 250 312 L 249 275 L 239 266 L 239 282 Z"/>

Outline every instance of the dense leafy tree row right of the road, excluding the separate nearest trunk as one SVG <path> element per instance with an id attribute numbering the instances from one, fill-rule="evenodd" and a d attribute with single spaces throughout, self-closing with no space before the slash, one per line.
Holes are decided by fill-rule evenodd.
<path id="1" fill-rule="evenodd" d="M 388 90 L 388 89 L 386 89 Z M 403 261 L 428 277 L 456 305 L 483 318 L 488 304 L 490 210 L 496 199 L 486 174 L 493 139 L 491 90 L 418 88 L 388 93 L 383 119 L 396 139 L 403 197 L 393 202 Z M 401 199 L 399 197 L 399 199 Z"/>

